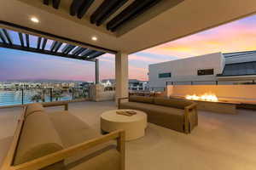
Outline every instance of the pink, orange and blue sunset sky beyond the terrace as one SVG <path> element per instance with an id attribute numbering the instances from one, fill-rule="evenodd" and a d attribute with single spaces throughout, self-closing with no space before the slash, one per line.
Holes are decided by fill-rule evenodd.
<path id="1" fill-rule="evenodd" d="M 35 37 L 32 37 L 32 39 Z M 256 15 L 129 55 L 129 78 L 148 80 L 148 65 L 214 52 L 256 50 Z M 94 81 L 94 63 L 0 48 L 0 81 L 57 79 Z M 100 59 L 100 78 L 114 77 L 114 56 Z"/>

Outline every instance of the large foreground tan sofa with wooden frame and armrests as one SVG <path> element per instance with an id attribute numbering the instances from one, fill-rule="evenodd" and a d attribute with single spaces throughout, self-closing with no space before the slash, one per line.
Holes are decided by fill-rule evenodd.
<path id="1" fill-rule="evenodd" d="M 125 133 L 102 135 L 68 111 L 27 105 L 2 169 L 124 170 Z"/>

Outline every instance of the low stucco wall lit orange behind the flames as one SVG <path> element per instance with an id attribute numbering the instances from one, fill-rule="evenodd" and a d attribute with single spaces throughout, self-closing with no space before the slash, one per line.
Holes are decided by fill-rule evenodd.
<path id="1" fill-rule="evenodd" d="M 256 100 L 256 85 L 177 85 L 168 86 L 167 96 L 213 93 L 221 99 Z"/>

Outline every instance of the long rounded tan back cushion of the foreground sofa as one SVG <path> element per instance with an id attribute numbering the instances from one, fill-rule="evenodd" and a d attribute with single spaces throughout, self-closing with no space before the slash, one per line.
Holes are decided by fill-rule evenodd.
<path id="1" fill-rule="evenodd" d="M 62 149 L 61 139 L 49 116 L 42 111 L 37 111 L 25 119 L 14 164 L 19 165 L 26 161 L 32 161 Z M 63 162 L 58 162 L 43 169 L 61 169 L 63 166 Z"/>

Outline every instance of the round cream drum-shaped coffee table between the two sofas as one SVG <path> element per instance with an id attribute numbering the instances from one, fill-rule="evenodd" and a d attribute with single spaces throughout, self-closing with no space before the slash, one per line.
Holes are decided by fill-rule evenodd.
<path id="1" fill-rule="evenodd" d="M 110 133 L 114 130 L 124 129 L 125 140 L 138 139 L 145 135 L 147 127 L 147 114 L 143 111 L 136 111 L 136 115 L 119 115 L 116 111 L 136 110 L 113 110 L 105 111 L 101 116 L 101 128 L 103 133 Z"/>

